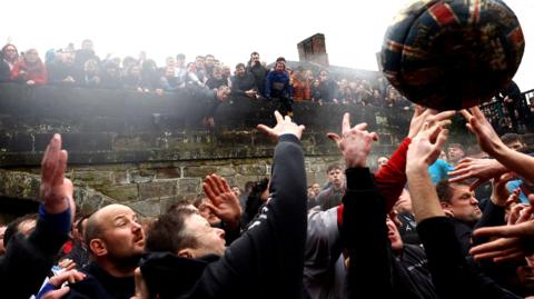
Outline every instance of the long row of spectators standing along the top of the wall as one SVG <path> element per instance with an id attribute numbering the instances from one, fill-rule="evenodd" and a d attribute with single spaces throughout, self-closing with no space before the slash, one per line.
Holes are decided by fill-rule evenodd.
<path id="1" fill-rule="evenodd" d="M 237 94 L 250 98 L 287 97 L 290 101 L 353 103 L 373 107 L 409 107 L 384 78 L 369 80 L 339 78 L 326 69 L 290 69 L 284 58 L 277 59 L 283 69 L 276 72 L 276 63 L 268 68 L 253 52 L 246 63 L 229 67 L 212 54 L 197 56 L 187 61 L 185 54 L 167 57 L 165 66 L 141 52 L 135 57 L 99 58 L 91 40 L 83 40 L 80 49 L 73 44 L 59 50 L 48 50 L 44 61 L 36 49 L 19 51 L 14 44 L 6 44 L 0 52 L 0 82 L 27 84 L 55 84 L 105 89 L 129 89 L 142 92 L 172 92 L 187 88 L 231 88 Z M 269 76 L 270 74 L 270 76 Z M 280 94 L 278 82 L 284 93 Z M 285 86 L 284 86 L 285 84 Z"/>

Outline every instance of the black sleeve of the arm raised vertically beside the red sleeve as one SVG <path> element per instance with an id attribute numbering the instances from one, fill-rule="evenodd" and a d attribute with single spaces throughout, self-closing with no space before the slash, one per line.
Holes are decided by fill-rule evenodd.
<path id="1" fill-rule="evenodd" d="M 387 238 L 385 202 L 367 168 L 346 170 L 340 229 L 349 256 L 349 298 L 392 298 L 392 253 Z"/>

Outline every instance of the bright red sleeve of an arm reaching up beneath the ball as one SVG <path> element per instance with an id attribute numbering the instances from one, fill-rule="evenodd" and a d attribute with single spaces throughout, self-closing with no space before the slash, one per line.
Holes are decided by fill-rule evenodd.
<path id="1" fill-rule="evenodd" d="M 411 142 L 409 138 L 404 139 L 389 161 L 375 176 L 376 186 L 386 199 L 386 212 L 393 208 L 406 185 L 406 153 Z"/>

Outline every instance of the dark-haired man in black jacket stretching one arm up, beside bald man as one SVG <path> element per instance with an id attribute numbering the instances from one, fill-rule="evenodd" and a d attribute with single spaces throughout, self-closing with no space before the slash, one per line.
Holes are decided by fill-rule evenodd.
<path id="1" fill-rule="evenodd" d="M 258 129 L 278 139 L 270 199 L 248 230 L 228 248 L 224 233 L 184 209 L 181 220 L 160 219 L 150 235 L 176 223 L 168 236 L 170 252 L 154 252 L 141 265 L 142 276 L 160 298 L 300 298 L 306 239 L 306 176 L 299 139 L 304 127 L 275 112 L 277 124 Z M 231 191 L 211 186 L 217 202 Z M 177 213 L 177 211 L 175 211 Z M 181 223 L 181 225 L 180 225 Z M 150 236 L 148 243 L 150 243 Z M 150 248 L 148 248 L 150 249 Z M 162 281 L 166 282 L 162 282 Z"/>

